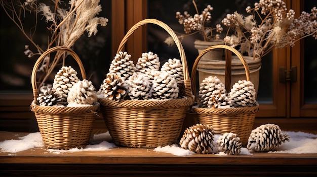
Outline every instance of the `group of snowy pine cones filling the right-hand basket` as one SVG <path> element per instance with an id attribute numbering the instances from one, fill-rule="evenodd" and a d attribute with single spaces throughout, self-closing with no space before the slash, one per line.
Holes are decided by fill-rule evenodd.
<path id="1" fill-rule="evenodd" d="M 257 104 L 256 91 L 251 81 L 240 80 L 232 86 L 230 93 L 216 76 L 205 78 L 199 89 L 199 107 L 229 108 L 252 107 Z"/>

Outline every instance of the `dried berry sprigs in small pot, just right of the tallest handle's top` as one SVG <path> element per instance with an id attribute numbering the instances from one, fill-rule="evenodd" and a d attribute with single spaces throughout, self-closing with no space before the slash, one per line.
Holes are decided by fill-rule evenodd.
<path id="1" fill-rule="evenodd" d="M 209 46 L 224 44 L 223 39 L 220 39 L 220 35 L 214 33 L 221 33 L 223 31 L 221 24 L 217 24 L 214 28 L 210 26 L 212 19 L 210 12 L 213 11 L 214 8 L 211 7 L 211 5 L 208 5 L 207 8 L 205 8 L 204 11 L 202 11 L 202 13 L 200 14 L 195 1 L 192 1 L 192 3 L 196 11 L 196 14 L 194 14 L 193 16 L 191 16 L 187 11 L 185 11 L 183 14 L 181 14 L 180 12 L 176 12 L 176 18 L 178 19 L 179 24 L 184 26 L 185 32 L 185 34 L 180 34 L 178 36 L 180 41 L 182 41 L 186 36 L 200 33 L 203 40 L 196 40 L 194 42 L 195 48 L 198 50 L 199 53 L 201 53 Z M 171 46 L 174 45 L 174 40 L 171 37 L 168 37 L 165 40 L 165 43 Z M 209 52 L 208 54 L 204 55 L 202 60 L 209 61 L 212 60 L 211 58 L 213 58 L 213 60 L 221 60 L 223 50 L 220 49 L 215 51 Z"/>

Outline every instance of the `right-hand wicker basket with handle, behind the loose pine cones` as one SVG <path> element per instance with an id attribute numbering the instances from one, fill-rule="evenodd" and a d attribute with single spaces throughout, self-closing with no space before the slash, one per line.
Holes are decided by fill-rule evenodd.
<path id="1" fill-rule="evenodd" d="M 246 79 L 250 81 L 250 70 L 249 66 L 244 60 L 242 54 L 236 49 L 228 45 L 214 45 L 208 47 L 199 56 L 197 56 L 191 73 L 192 79 L 192 90 L 195 91 L 195 79 L 196 79 L 196 69 L 201 57 L 212 49 L 224 48 L 226 49 L 226 72 L 225 72 L 225 87 L 227 92 L 231 88 L 231 52 L 236 54 L 241 60 L 246 71 Z M 255 114 L 259 110 L 259 105 L 253 107 L 241 107 L 241 108 L 202 108 L 193 107 L 192 111 L 196 113 L 197 120 L 201 124 L 212 125 L 215 134 L 224 133 L 235 133 L 240 137 L 243 146 L 247 145 L 248 138 L 253 129 Z"/>

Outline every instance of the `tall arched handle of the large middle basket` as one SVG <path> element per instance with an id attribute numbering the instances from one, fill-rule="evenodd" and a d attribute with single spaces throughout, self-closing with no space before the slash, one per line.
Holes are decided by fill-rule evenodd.
<path id="1" fill-rule="evenodd" d="M 177 35 L 175 34 L 175 32 L 164 22 L 160 21 L 160 20 L 156 20 L 156 19 L 145 19 L 145 20 L 141 20 L 138 23 L 136 23 L 135 25 L 133 25 L 130 30 L 127 32 L 127 34 L 124 36 L 124 38 L 121 40 L 119 47 L 117 49 L 117 53 L 122 51 L 127 40 L 129 39 L 129 37 L 133 34 L 134 31 L 136 31 L 140 26 L 145 25 L 145 24 L 155 24 L 158 25 L 160 27 L 162 27 L 163 29 L 165 29 L 173 38 L 179 54 L 180 54 L 180 58 L 181 58 L 181 62 L 182 62 L 182 66 L 183 66 L 183 73 L 184 73 L 184 86 L 185 86 L 185 96 L 186 97 L 192 97 L 192 92 L 191 92 L 191 82 L 190 82 L 190 77 L 189 77 L 189 72 L 188 72 L 188 67 L 187 67 L 187 60 L 186 60 L 186 56 L 185 56 L 185 52 L 183 49 L 183 46 L 181 44 L 181 42 L 179 41 Z"/>

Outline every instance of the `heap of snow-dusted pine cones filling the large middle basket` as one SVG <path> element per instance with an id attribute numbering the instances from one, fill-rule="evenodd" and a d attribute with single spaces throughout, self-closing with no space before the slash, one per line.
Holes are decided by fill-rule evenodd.
<path id="1" fill-rule="evenodd" d="M 120 51 L 98 93 L 115 101 L 178 98 L 184 80 L 181 61 L 169 59 L 161 69 L 160 66 L 159 57 L 153 52 L 142 53 L 134 65 L 131 55 Z"/>

